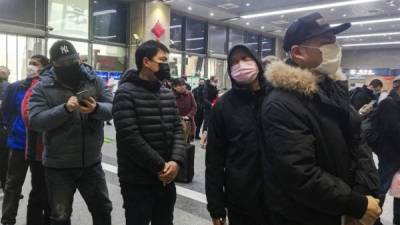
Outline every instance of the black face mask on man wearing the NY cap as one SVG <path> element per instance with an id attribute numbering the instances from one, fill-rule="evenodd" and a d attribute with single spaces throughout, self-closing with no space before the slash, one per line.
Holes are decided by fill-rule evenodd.
<path id="1" fill-rule="evenodd" d="M 57 78 L 71 88 L 77 89 L 82 79 L 81 67 L 79 63 L 70 66 L 54 67 Z"/>

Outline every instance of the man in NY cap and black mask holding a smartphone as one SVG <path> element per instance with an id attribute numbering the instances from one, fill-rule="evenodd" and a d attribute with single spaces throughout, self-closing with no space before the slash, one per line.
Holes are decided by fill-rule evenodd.
<path id="1" fill-rule="evenodd" d="M 112 204 L 101 167 L 103 124 L 112 117 L 111 92 L 91 67 L 79 63 L 70 42 L 57 41 L 50 56 L 53 66 L 32 91 L 29 117 L 32 129 L 44 135 L 51 224 L 71 224 L 78 189 L 93 224 L 111 225 Z"/>

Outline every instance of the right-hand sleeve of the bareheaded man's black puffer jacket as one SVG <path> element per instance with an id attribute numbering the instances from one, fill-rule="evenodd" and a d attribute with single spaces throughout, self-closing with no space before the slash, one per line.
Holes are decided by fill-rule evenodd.
<path id="1" fill-rule="evenodd" d="M 183 140 L 181 117 L 179 116 L 178 107 L 176 106 L 175 99 L 174 103 L 176 109 L 175 113 L 176 120 L 174 124 L 174 143 L 172 145 L 171 160 L 177 162 L 179 165 L 182 165 L 185 160 L 185 142 Z"/>

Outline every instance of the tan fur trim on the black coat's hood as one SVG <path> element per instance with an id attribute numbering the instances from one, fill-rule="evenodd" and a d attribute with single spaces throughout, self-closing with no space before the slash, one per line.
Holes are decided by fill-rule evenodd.
<path id="1" fill-rule="evenodd" d="M 273 87 L 295 91 L 306 96 L 311 96 L 318 92 L 318 82 L 321 79 L 320 75 L 316 75 L 308 69 L 294 67 L 282 61 L 275 61 L 269 64 L 265 76 Z M 329 77 L 333 80 L 346 80 L 346 76 L 341 69 Z"/>

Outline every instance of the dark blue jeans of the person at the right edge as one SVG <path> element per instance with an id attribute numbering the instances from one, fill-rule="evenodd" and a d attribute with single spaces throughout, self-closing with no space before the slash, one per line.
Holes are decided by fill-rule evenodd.
<path id="1" fill-rule="evenodd" d="M 379 200 L 380 200 L 380 205 L 381 207 L 383 206 L 383 203 L 385 202 L 385 197 L 386 193 L 390 189 L 390 186 L 392 184 L 392 179 L 393 176 L 396 174 L 396 172 L 400 169 L 400 166 L 394 163 L 388 163 L 385 162 L 384 160 L 379 160 L 379 177 L 381 181 L 381 187 L 379 191 Z M 399 222 L 400 219 L 400 199 L 394 198 L 393 201 L 393 217 L 394 217 L 394 222 Z"/>

